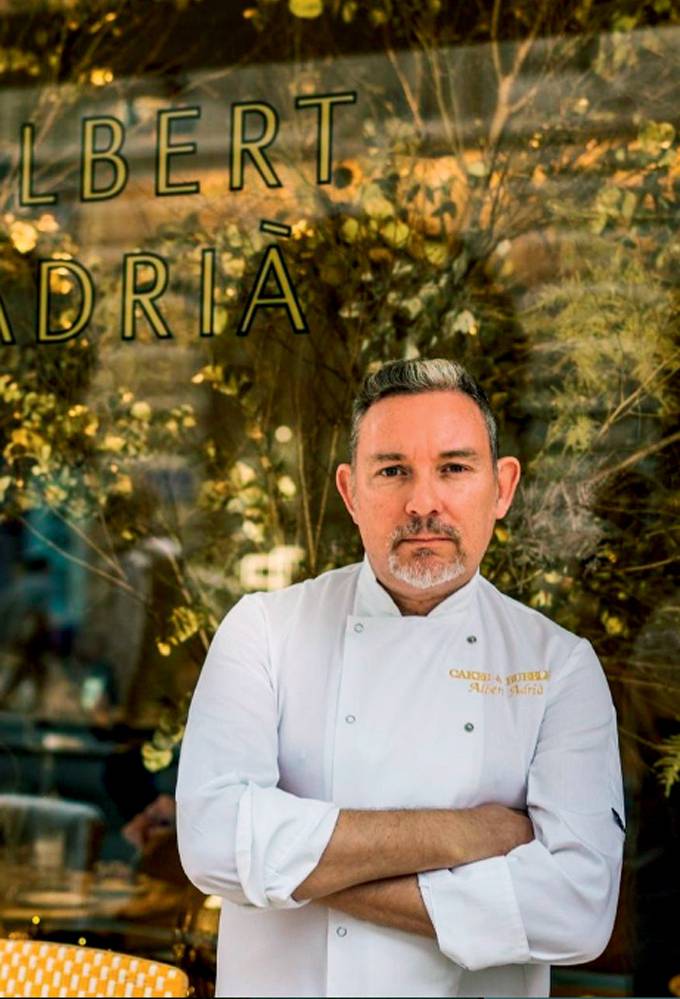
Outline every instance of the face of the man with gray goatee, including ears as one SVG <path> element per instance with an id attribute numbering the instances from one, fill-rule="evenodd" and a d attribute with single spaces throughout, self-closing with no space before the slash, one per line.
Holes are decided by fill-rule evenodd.
<path id="1" fill-rule="evenodd" d="M 355 467 L 337 473 L 377 578 L 393 595 L 433 606 L 474 575 L 518 479 L 515 458 L 494 470 L 481 411 L 453 391 L 375 403 Z"/>

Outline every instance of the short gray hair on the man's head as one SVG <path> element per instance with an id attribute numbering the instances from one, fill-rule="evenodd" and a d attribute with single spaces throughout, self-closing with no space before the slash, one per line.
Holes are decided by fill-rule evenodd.
<path id="1" fill-rule="evenodd" d="M 411 361 L 390 361 L 378 371 L 366 376 L 352 406 L 350 428 L 352 464 L 357 453 L 359 427 L 371 406 L 389 395 L 419 395 L 422 392 L 441 391 L 462 392 L 478 406 L 486 423 L 491 460 L 495 467 L 498 461 L 498 426 L 486 393 L 462 364 L 447 361 L 442 357 L 430 360 L 417 358 Z"/>

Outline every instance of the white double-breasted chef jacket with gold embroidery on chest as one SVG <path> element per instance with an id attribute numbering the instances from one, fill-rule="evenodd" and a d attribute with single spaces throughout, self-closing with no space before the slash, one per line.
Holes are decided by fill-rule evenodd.
<path id="1" fill-rule="evenodd" d="M 535 839 L 419 875 L 437 939 L 298 903 L 340 808 L 527 808 Z M 243 599 L 194 694 L 180 854 L 221 895 L 218 996 L 547 996 L 614 920 L 623 801 L 588 642 L 477 573 L 402 616 L 370 563 Z"/>

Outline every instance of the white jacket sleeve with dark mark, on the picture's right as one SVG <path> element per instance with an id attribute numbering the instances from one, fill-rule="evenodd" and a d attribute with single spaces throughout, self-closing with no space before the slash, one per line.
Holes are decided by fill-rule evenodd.
<path id="1" fill-rule="evenodd" d="M 535 839 L 505 857 L 419 876 L 440 950 L 470 971 L 578 964 L 614 924 L 624 839 L 616 716 L 580 641 L 546 705 L 527 785 Z"/>

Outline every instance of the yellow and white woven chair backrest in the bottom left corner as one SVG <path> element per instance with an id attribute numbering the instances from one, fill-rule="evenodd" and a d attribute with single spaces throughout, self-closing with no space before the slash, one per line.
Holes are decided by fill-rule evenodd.
<path id="1" fill-rule="evenodd" d="M 0 996 L 186 996 L 171 964 L 94 947 L 0 939 Z"/>

